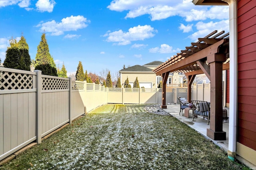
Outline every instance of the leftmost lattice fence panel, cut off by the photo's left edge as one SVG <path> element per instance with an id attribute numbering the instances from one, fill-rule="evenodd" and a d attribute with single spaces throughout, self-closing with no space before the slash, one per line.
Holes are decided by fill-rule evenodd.
<path id="1" fill-rule="evenodd" d="M 0 72 L 0 90 L 32 89 L 33 75 L 14 72 Z"/>

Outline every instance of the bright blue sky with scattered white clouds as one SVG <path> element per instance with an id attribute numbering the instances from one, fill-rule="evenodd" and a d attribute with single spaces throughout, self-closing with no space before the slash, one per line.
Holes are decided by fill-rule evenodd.
<path id="1" fill-rule="evenodd" d="M 0 58 L 21 34 L 35 59 L 45 31 L 56 65 L 68 76 L 112 74 L 122 66 L 166 61 L 214 30 L 228 32 L 228 6 L 195 6 L 192 0 L 0 0 Z"/>

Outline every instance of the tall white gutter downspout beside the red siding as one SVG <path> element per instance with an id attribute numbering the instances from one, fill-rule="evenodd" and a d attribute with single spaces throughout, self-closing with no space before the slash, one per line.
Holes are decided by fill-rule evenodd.
<path id="1" fill-rule="evenodd" d="M 229 6 L 229 56 L 230 56 L 230 108 L 229 108 L 229 137 L 228 158 L 236 157 L 237 131 L 237 84 L 238 84 L 238 53 L 237 53 L 237 4 L 236 0 L 222 0 Z"/>

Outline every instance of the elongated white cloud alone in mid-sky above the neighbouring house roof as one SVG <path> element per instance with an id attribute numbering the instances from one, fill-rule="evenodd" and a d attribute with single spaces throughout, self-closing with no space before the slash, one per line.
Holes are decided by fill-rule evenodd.
<path id="1" fill-rule="evenodd" d="M 114 32 L 107 32 L 104 37 L 107 37 L 107 42 L 115 42 L 117 45 L 128 45 L 131 41 L 139 41 L 147 38 L 154 37 L 156 29 L 150 25 L 136 26 L 128 30 L 128 32 L 122 31 L 122 29 Z"/>

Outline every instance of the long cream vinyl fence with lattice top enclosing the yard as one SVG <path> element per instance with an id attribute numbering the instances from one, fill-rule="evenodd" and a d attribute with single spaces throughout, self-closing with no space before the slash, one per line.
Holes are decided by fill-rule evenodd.
<path id="1" fill-rule="evenodd" d="M 210 85 L 204 87 L 210 87 Z M 210 88 L 192 98 L 210 100 Z M 187 97 L 187 88 L 167 88 L 166 104 Z M 209 99 L 209 100 L 208 100 Z M 103 104 L 161 104 L 161 88 L 104 88 L 70 78 L 0 67 L 0 160 Z"/>

